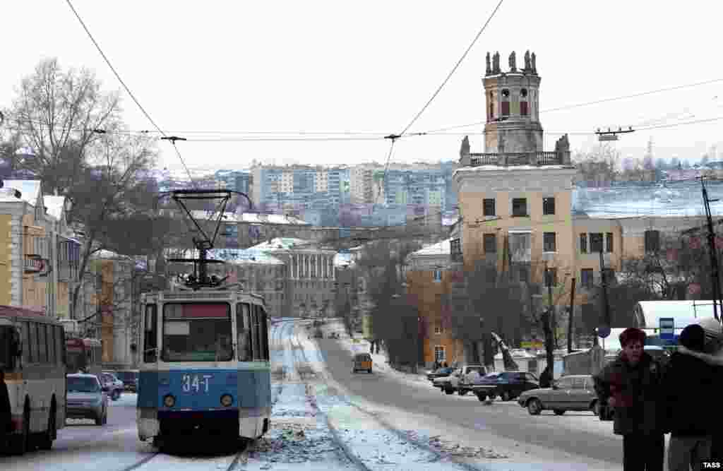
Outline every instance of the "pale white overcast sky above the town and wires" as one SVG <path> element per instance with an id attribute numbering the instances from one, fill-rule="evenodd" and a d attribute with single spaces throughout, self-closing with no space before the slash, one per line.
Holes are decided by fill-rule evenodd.
<path id="1" fill-rule="evenodd" d="M 422 109 L 498 0 L 476 1 L 137 1 L 74 0 L 121 77 L 155 122 L 185 131 L 400 132 Z M 436 100 L 411 131 L 484 119 L 484 56 L 502 69 L 517 52 L 537 56 L 545 109 L 723 78 L 719 25 L 711 0 L 505 0 Z M 64 0 L 5 1 L 0 107 L 40 59 L 95 70 L 121 89 Z M 716 97 L 720 98 L 716 98 Z M 153 129 L 132 101 L 134 130 Z M 589 148 L 597 127 L 674 124 L 723 116 L 723 81 L 541 115 L 545 150 L 570 132 Z M 625 135 L 623 156 L 697 160 L 720 139 L 721 121 Z M 481 152 L 482 125 L 455 130 Z M 450 131 L 451 132 L 451 131 Z M 393 161 L 458 157 L 462 135 L 398 141 Z M 161 143 L 163 166 L 180 161 Z M 384 162 L 388 141 L 179 143 L 192 168 Z M 721 149 L 723 150 L 723 148 Z"/>

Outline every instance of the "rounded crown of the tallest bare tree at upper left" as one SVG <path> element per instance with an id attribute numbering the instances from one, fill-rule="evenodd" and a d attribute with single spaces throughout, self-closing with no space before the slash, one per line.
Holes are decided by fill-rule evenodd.
<path id="1" fill-rule="evenodd" d="M 46 192 L 61 195 L 77 182 L 102 132 L 122 130 L 119 93 L 103 92 L 87 69 L 64 71 L 58 59 L 40 61 L 6 112 L 20 137 L 18 148 L 25 148 L 14 166 L 33 172 Z"/>

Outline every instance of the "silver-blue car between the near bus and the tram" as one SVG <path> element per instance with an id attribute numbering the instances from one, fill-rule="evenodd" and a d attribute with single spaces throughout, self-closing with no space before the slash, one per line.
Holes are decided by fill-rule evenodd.
<path id="1" fill-rule="evenodd" d="M 95 425 L 108 422 L 108 396 L 96 375 L 67 375 L 67 413 L 69 419 L 93 419 Z"/>

